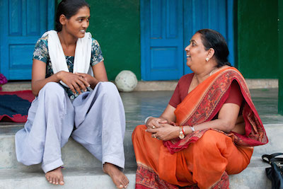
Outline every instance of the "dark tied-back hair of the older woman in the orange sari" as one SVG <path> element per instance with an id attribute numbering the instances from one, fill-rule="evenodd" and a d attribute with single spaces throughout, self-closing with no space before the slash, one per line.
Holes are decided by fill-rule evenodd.
<path id="1" fill-rule="evenodd" d="M 200 33 L 205 50 L 214 49 L 217 67 L 231 66 L 227 59 L 229 55 L 227 43 L 221 33 L 211 29 L 198 30 L 196 33 Z"/>

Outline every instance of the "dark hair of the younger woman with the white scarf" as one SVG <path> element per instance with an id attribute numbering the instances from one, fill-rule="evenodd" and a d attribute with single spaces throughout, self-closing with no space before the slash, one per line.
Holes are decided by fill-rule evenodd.
<path id="1" fill-rule="evenodd" d="M 89 9 L 91 9 L 84 0 L 62 0 L 57 7 L 55 30 L 57 30 L 57 32 L 62 30 L 62 24 L 59 21 L 59 18 L 62 14 L 69 19 L 71 16 L 74 16 L 83 6 L 87 6 Z"/>

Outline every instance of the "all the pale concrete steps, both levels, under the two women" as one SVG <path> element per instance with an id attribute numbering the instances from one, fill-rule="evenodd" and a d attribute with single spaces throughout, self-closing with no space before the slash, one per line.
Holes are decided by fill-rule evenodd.
<path id="1" fill-rule="evenodd" d="M 53 188 L 45 181 L 40 165 L 23 166 L 16 161 L 14 134 L 23 124 L 0 125 L 0 188 Z M 230 188 L 271 188 L 265 176 L 265 164 L 262 154 L 283 151 L 283 124 L 265 125 L 269 144 L 255 147 L 250 165 L 242 173 L 230 176 Z M 132 130 L 125 133 L 125 173 L 129 178 L 129 188 L 134 188 L 135 158 L 132 148 Z M 62 188 L 115 188 L 110 177 L 101 170 L 101 163 L 80 144 L 70 139 L 62 149 L 64 178 Z"/>

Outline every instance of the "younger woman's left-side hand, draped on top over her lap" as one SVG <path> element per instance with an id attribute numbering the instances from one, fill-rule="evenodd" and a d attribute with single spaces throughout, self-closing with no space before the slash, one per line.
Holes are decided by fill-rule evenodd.
<path id="1" fill-rule="evenodd" d="M 57 73 L 58 79 L 67 84 L 73 93 L 78 91 L 81 94 L 81 90 L 86 91 L 86 87 L 90 86 L 88 81 L 78 74 L 73 74 L 67 71 L 59 71 Z"/>

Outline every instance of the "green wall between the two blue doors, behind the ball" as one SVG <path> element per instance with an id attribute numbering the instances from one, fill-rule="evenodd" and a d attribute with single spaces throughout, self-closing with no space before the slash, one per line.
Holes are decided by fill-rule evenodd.
<path id="1" fill-rule="evenodd" d="M 108 79 L 125 69 L 141 79 L 139 0 L 86 1 L 91 6 L 88 31 L 100 44 Z"/>

